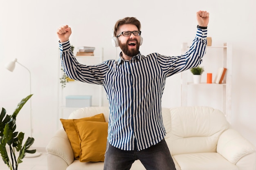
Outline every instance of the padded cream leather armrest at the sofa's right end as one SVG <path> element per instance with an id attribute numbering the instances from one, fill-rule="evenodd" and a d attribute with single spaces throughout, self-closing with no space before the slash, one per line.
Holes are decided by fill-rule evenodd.
<path id="1" fill-rule="evenodd" d="M 224 131 L 218 140 L 217 152 L 231 163 L 255 152 L 255 146 L 234 129 Z"/>

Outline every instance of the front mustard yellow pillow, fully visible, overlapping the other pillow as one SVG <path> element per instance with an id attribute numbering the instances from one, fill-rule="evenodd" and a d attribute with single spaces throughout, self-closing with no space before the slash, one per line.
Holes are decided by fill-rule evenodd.
<path id="1" fill-rule="evenodd" d="M 80 138 L 79 161 L 104 161 L 108 137 L 108 123 L 74 120 L 74 124 Z"/>

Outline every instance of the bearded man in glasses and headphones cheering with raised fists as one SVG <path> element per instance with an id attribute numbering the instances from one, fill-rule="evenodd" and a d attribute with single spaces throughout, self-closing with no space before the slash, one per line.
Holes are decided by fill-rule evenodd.
<path id="1" fill-rule="evenodd" d="M 61 62 L 68 77 L 103 85 L 106 90 L 110 114 L 104 170 L 129 170 L 137 159 L 147 170 L 175 170 L 164 140 L 161 101 L 166 77 L 202 62 L 209 13 L 198 11 L 196 18 L 198 30 L 189 51 L 175 57 L 141 55 L 140 22 L 128 17 L 118 20 L 112 41 L 121 48 L 119 60 L 96 66 L 76 61 L 70 50 L 70 27 L 57 30 Z"/>

